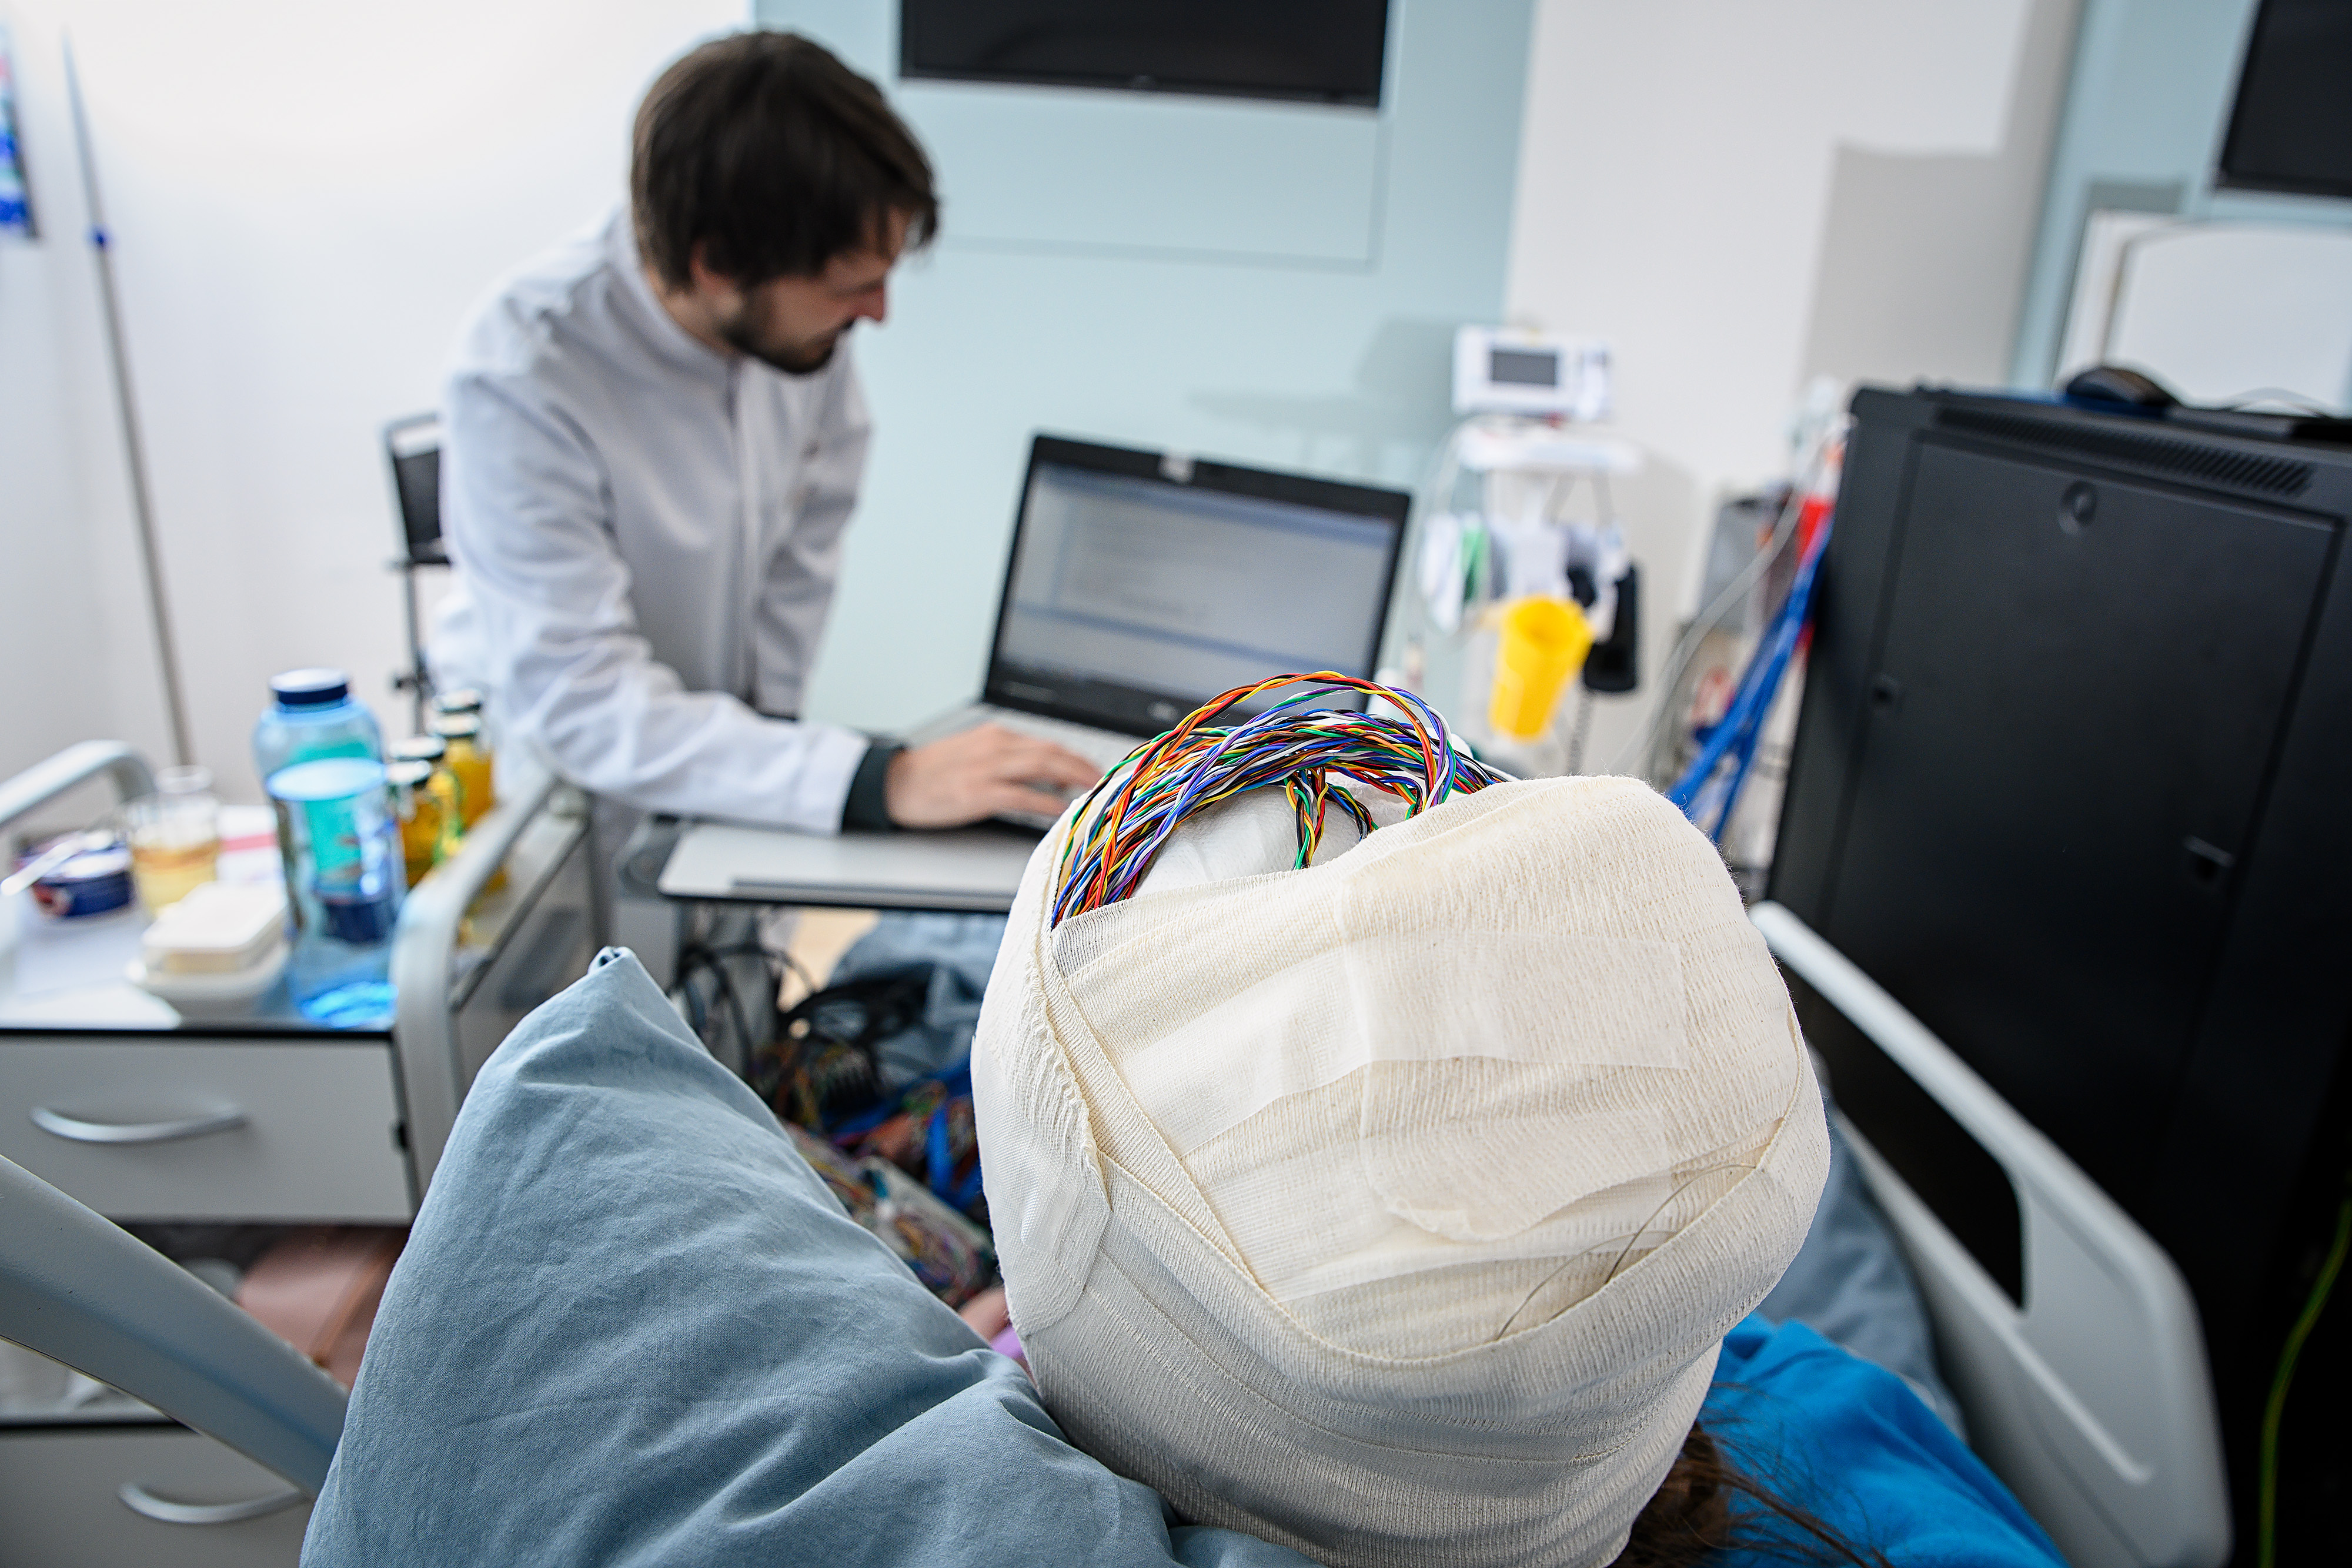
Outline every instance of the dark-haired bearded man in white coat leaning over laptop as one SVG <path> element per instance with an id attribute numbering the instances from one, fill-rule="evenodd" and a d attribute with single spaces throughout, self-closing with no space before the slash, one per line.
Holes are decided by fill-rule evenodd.
<path id="1" fill-rule="evenodd" d="M 506 743 L 621 806 L 807 832 L 1094 783 L 995 726 L 901 750 L 797 719 L 866 468 L 847 334 L 936 221 L 915 136 L 807 38 L 654 82 L 628 212 L 510 275 L 445 393 L 435 668 L 492 691 Z"/>

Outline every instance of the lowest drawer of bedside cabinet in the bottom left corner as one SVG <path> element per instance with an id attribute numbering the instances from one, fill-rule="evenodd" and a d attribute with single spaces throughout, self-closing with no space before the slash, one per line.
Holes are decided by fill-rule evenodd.
<path id="1" fill-rule="evenodd" d="M 238 1514 L 240 1502 L 261 1507 L 289 1490 L 186 1427 L 0 1427 L 0 1568 L 294 1568 L 301 1559 L 308 1497 L 259 1519 L 167 1523 L 134 1512 L 125 1486 L 165 1514 L 172 1505 Z"/>

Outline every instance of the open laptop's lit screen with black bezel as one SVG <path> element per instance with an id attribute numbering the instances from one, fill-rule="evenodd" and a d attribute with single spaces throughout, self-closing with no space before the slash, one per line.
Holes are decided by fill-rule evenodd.
<path id="1" fill-rule="evenodd" d="M 1040 435 L 983 701 L 1155 736 L 1268 675 L 1369 677 L 1409 508 L 1395 489 Z"/>

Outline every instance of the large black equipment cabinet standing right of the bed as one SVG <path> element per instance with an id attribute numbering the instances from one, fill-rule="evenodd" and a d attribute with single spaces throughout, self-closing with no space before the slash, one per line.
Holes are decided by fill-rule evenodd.
<path id="1" fill-rule="evenodd" d="M 2251 1542 L 2352 1164 L 2352 447 L 1943 390 L 1865 388 L 1853 421 L 1769 898 L 2180 1265 Z M 1799 1018 L 1839 1110 L 2030 1298 L 2002 1173 Z M 2352 1483 L 2347 1340 L 2296 1373 L 2305 1497 Z"/>

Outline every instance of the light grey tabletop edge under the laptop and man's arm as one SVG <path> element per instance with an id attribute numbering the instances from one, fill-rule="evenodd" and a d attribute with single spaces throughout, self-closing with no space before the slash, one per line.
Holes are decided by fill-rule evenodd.
<path id="1" fill-rule="evenodd" d="M 1035 849 L 1037 835 L 1016 827 L 828 837 L 696 823 L 659 886 L 670 898 L 1002 914 Z"/>

